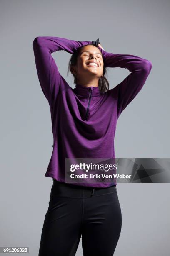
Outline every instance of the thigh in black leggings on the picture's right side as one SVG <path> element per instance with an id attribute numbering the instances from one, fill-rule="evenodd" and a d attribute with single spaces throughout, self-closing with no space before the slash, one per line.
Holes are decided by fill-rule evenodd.
<path id="1" fill-rule="evenodd" d="M 84 256 L 113 256 L 122 227 L 117 192 L 85 198 L 82 227 Z"/>

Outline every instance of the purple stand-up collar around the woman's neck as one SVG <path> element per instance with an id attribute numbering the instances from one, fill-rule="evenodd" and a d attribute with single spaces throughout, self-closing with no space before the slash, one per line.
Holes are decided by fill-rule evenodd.
<path id="1" fill-rule="evenodd" d="M 85 86 L 82 86 L 81 84 L 76 84 L 73 91 L 77 95 L 81 95 L 81 96 L 84 96 L 84 97 L 89 97 L 90 89 L 91 89 L 91 92 L 92 92 L 92 94 L 91 94 L 92 97 L 96 97 L 96 96 L 101 95 L 98 86 L 97 87 L 94 87 L 94 86 L 85 87 Z"/>

